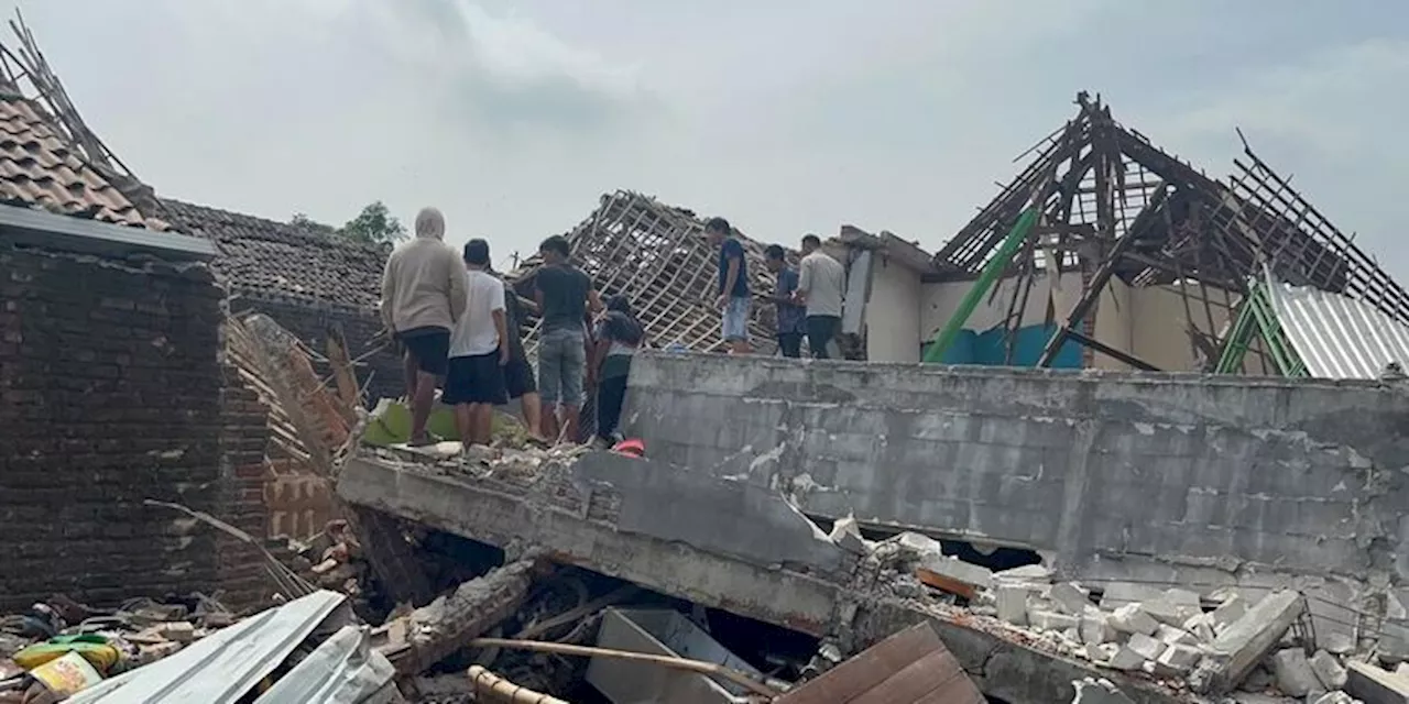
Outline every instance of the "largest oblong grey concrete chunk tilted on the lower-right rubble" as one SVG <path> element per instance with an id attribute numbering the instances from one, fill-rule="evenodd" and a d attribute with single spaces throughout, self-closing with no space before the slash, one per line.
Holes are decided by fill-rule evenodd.
<path id="1" fill-rule="evenodd" d="M 1301 593 L 1291 590 L 1274 591 L 1258 601 L 1208 646 L 1208 655 L 1189 676 L 1189 687 L 1199 694 L 1231 691 L 1302 615 L 1303 603 Z"/>

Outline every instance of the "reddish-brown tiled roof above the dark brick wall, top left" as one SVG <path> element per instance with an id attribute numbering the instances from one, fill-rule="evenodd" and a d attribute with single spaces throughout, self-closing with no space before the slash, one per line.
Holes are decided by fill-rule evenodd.
<path id="1" fill-rule="evenodd" d="M 86 163 L 28 99 L 0 92 L 0 203 L 118 225 L 169 230 Z"/>

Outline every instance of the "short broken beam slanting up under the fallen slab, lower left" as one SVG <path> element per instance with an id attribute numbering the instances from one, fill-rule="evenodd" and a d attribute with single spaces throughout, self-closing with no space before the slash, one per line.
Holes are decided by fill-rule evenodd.
<path id="1" fill-rule="evenodd" d="M 400 676 L 418 674 L 445 659 L 523 605 L 535 565 L 537 556 L 528 556 L 495 567 L 402 617 L 407 622 L 402 631 L 406 639 L 389 642 L 383 655 Z"/>

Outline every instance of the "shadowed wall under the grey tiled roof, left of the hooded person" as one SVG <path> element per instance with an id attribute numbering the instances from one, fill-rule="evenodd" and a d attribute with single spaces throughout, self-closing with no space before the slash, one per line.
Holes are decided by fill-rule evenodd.
<path id="1" fill-rule="evenodd" d="M 327 353 L 328 329 L 341 329 L 348 342 L 348 355 L 354 360 L 362 358 L 356 373 L 358 382 L 366 386 L 368 404 L 375 406 L 378 398 L 399 398 L 404 394 L 402 360 L 395 345 L 383 345 L 385 339 L 378 339 L 382 318 L 373 308 L 244 291 L 231 297 L 230 310 L 269 315 L 318 355 Z M 314 366 L 320 373 L 328 373 L 327 365 Z"/>

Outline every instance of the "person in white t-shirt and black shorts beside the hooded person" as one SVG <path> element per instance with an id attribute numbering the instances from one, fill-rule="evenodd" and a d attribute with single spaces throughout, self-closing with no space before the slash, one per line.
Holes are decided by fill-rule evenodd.
<path id="1" fill-rule="evenodd" d="M 441 400 L 455 407 L 455 428 L 465 445 L 489 445 L 495 406 L 509 403 L 503 367 L 509 363 L 504 284 L 489 273 L 489 242 L 465 244 L 465 314 L 449 337 L 449 372 Z"/>

